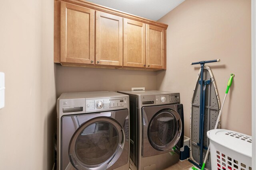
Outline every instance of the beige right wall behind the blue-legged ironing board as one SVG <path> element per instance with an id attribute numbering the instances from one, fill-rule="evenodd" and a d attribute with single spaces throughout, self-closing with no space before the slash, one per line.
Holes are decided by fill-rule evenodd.
<path id="1" fill-rule="evenodd" d="M 167 29 L 167 70 L 156 75 L 158 90 L 180 92 L 185 135 L 189 135 L 190 100 L 199 65 L 221 59 L 212 68 L 220 101 L 230 73 L 234 82 L 226 99 L 221 127 L 251 135 L 251 1 L 186 0 L 159 20 Z"/>

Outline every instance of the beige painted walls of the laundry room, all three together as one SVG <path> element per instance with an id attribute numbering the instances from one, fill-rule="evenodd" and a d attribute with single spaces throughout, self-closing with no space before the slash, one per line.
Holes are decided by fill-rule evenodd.
<path id="1" fill-rule="evenodd" d="M 180 92 L 189 136 L 190 98 L 198 73 L 190 62 L 200 60 L 222 60 L 208 64 L 221 101 L 229 74 L 236 74 L 222 127 L 251 134 L 250 0 L 186 0 L 164 16 L 160 21 L 169 24 L 168 69 L 158 72 L 54 66 L 53 2 L 4 1 L 0 6 L 0 72 L 6 74 L 0 169 L 52 168 L 55 103 L 62 92 L 140 86 Z"/>

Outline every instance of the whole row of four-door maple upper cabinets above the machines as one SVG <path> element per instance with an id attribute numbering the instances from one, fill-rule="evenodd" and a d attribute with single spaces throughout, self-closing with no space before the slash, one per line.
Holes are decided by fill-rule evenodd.
<path id="1" fill-rule="evenodd" d="M 54 63 L 166 69 L 167 27 L 84 0 L 54 0 Z"/>

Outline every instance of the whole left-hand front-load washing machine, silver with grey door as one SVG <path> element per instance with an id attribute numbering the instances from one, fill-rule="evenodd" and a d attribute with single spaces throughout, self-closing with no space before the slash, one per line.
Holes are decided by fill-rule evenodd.
<path id="1" fill-rule="evenodd" d="M 58 170 L 129 170 L 129 96 L 61 94 L 57 136 Z"/>

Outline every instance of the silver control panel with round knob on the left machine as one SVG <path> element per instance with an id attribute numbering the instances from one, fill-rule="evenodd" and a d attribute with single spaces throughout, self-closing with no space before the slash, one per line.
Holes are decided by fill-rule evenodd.
<path id="1" fill-rule="evenodd" d="M 128 107 L 128 98 L 98 98 L 85 100 L 86 113 L 92 111 L 104 111 L 111 109 L 122 109 Z"/>

